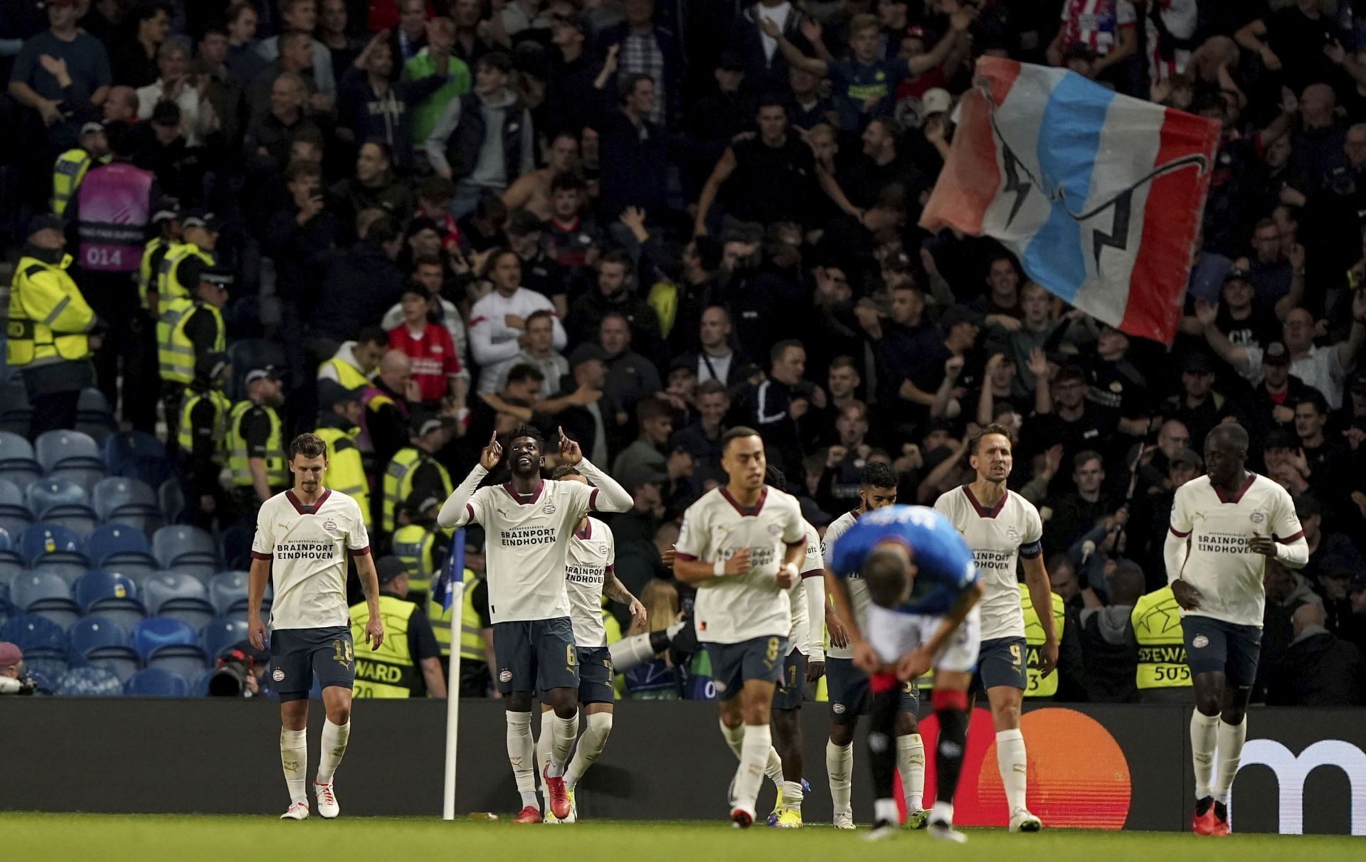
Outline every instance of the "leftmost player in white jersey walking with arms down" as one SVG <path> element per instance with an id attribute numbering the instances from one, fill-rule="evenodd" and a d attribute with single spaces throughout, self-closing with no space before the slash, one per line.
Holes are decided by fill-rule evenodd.
<path id="1" fill-rule="evenodd" d="M 251 574 L 247 586 L 247 638 L 265 646 L 261 600 L 268 578 L 275 579 L 270 605 L 270 679 L 280 694 L 280 765 L 290 788 L 290 807 L 280 820 L 306 820 L 303 792 L 309 765 L 309 689 L 317 673 L 322 686 L 322 747 L 313 794 L 318 814 L 342 813 L 332 787 L 351 736 L 351 684 L 355 654 L 351 617 L 346 601 L 346 557 L 355 557 L 361 589 L 370 619 L 365 641 L 376 649 L 384 642 L 380 622 L 380 579 L 370 556 L 361 507 L 347 495 L 322 486 L 328 469 L 326 444 L 314 434 L 290 443 L 294 488 L 261 505 L 251 542 Z"/>

